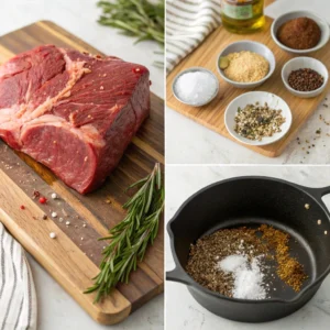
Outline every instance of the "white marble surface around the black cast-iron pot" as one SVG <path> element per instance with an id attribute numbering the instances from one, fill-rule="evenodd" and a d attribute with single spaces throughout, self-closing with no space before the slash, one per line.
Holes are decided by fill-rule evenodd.
<path id="1" fill-rule="evenodd" d="M 166 221 L 179 206 L 200 188 L 224 178 L 264 175 L 310 187 L 330 185 L 329 167 L 309 166 L 167 166 Z M 324 197 L 330 208 L 330 195 Z M 166 270 L 174 268 L 169 239 L 166 235 Z M 330 323 L 330 276 L 317 295 L 300 310 L 273 322 L 249 324 L 222 319 L 198 305 L 185 285 L 166 282 L 166 328 L 170 330 L 327 330 Z"/>

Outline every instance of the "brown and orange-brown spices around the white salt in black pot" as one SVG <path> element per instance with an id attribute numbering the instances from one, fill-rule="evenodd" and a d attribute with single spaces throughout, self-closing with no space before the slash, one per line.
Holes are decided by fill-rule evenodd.
<path id="1" fill-rule="evenodd" d="M 218 230 L 190 245 L 186 271 L 204 287 L 232 297 L 234 278 L 232 274 L 219 270 L 218 262 L 233 254 L 249 253 L 250 258 L 264 255 L 265 260 L 276 262 L 278 277 L 299 292 L 307 275 L 304 266 L 289 255 L 289 240 L 288 233 L 267 224 L 257 229 L 240 227 Z"/>

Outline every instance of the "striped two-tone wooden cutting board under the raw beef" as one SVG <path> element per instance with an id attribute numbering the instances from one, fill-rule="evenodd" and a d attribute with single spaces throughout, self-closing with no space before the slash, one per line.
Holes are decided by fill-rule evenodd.
<path id="1" fill-rule="evenodd" d="M 41 44 L 100 53 L 54 23 L 42 21 L 0 37 L 0 62 Z M 0 221 L 95 320 L 106 324 L 122 321 L 163 292 L 161 224 L 154 245 L 132 274 L 130 284 L 120 285 L 102 304 L 95 305 L 95 295 L 82 294 L 99 272 L 105 242 L 97 239 L 107 235 L 108 229 L 124 217 L 121 205 L 129 198 L 125 188 L 151 173 L 155 162 L 164 163 L 163 100 L 152 95 L 151 109 L 151 117 L 118 168 L 100 189 L 87 196 L 69 189 L 46 167 L 0 142 Z M 33 199 L 34 190 L 47 197 L 48 202 L 41 205 Z M 52 200 L 52 193 L 58 199 Z M 58 213 L 56 219 L 51 217 L 53 211 Z M 43 215 L 48 216 L 47 220 L 42 220 Z M 66 221 L 70 224 L 66 226 Z M 50 232 L 57 238 L 52 240 Z"/>

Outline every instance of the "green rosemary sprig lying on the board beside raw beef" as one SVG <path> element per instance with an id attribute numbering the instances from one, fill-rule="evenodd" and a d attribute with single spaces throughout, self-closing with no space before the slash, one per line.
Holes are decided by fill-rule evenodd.
<path id="1" fill-rule="evenodd" d="M 85 293 L 97 292 L 95 301 L 119 283 L 128 283 L 132 271 L 144 257 L 148 244 L 153 244 L 164 209 L 164 188 L 161 165 L 156 163 L 153 172 L 129 187 L 140 187 L 139 191 L 123 205 L 128 210 L 125 218 L 113 227 L 107 238 L 111 240 L 103 250 L 100 273 L 94 278 L 95 284 Z"/>

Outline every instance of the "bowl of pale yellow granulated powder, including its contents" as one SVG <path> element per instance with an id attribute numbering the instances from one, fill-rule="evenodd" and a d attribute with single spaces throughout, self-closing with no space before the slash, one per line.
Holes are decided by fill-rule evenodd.
<path id="1" fill-rule="evenodd" d="M 237 88 L 255 88 L 262 85 L 273 75 L 275 66 L 273 52 L 252 41 L 228 45 L 217 59 L 222 79 Z"/>

